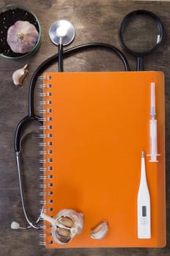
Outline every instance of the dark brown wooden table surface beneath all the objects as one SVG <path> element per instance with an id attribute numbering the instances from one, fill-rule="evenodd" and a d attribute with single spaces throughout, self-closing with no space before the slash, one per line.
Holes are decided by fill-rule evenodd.
<path id="1" fill-rule="evenodd" d="M 114 1 L 114 0 L 25 0 L 12 1 L 24 4 L 39 18 L 42 27 L 42 43 L 34 56 L 26 59 L 10 60 L 0 58 L 0 255 L 170 255 L 170 1 Z M 0 0 L 0 5 L 10 1 Z M 11 230 L 12 220 L 26 225 L 20 205 L 18 173 L 14 153 L 15 128 L 21 118 L 28 113 L 28 86 L 36 67 L 45 59 L 57 53 L 57 47 L 50 42 L 48 30 L 50 25 L 59 19 L 69 20 L 74 24 L 76 37 L 72 46 L 85 42 L 107 42 L 121 49 L 117 36 L 120 21 L 132 10 L 146 9 L 155 12 L 162 20 L 164 37 L 162 45 L 150 56 L 144 59 L 145 70 L 160 70 L 165 74 L 166 94 L 166 230 L 167 245 L 164 248 L 93 248 L 93 249 L 52 249 L 47 250 L 39 245 L 39 231 Z M 1 26 L 1 24 L 0 24 Z M 69 47 L 66 47 L 69 48 Z M 125 52 L 124 52 L 125 53 Z M 125 53 L 131 70 L 135 70 L 134 57 Z M 29 65 L 29 74 L 23 86 L 18 88 L 12 84 L 12 72 L 15 69 Z M 57 71 L 58 64 L 53 64 L 50 70 Z M 64 71 L 123 71 L 121 61 L 107 50 L 87 50 L 77 53 L 64 60 Z M 38 100 L 38 97 L 36 97 Z M 38 106 L 36 106 L 38 108 Z M 33 136 L 33 135 L 32 135 Z M 33 219 L 37 214 L 38 173 L 35 156 L 36 146 L 26 140 L 23 146 L 23 184 L 26 192 L 26 208 Z M 27 161 L 26 161 L 27 159 Z M 34 159 L 34 161 L 32 161 Z"/>

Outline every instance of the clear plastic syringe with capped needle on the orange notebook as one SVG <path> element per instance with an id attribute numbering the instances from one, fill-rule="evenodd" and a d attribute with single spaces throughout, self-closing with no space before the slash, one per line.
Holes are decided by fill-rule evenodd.
<path id="1" fill-rule="evenodd" d="M 155 119 L 155 83 L 150 83 L 150 162 L 158 162 L 157 120 Z"/>

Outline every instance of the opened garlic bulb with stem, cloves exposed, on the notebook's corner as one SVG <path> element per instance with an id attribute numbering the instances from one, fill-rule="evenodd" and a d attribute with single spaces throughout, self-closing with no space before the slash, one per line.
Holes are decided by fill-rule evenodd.
<path id="1" fill-rule="evenodd" d="M 54 218 L 41 215 L 42 219 L 52 224 L 52 236 L 58 244 L 68 244 L 74 236 L 80 234 L 83 228 L 83 214 L 74 210 L 63 209 Z"/>

